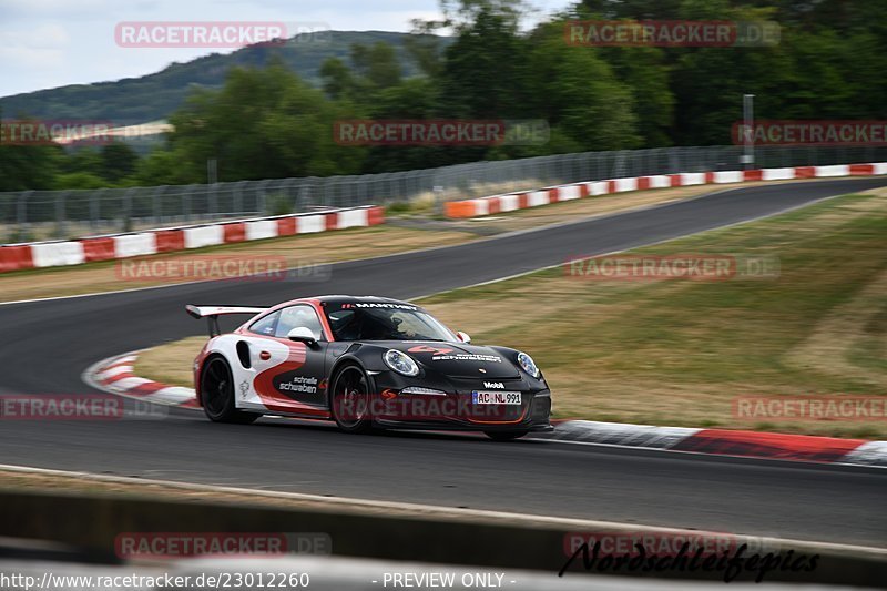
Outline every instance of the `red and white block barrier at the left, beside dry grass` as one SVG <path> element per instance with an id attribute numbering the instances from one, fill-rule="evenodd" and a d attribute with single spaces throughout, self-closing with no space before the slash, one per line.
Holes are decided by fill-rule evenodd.
<path id="1" fill-rule="evenodd" d="M 385 222 L 385 210 L 370 205 L 108 236 L 89 236 L 77 241 L 8 244 L 0 246 L 0 273 L 80 265 L 95 261 L 171 253 L 327 230 L 373 226 L 383 222 Z"/>

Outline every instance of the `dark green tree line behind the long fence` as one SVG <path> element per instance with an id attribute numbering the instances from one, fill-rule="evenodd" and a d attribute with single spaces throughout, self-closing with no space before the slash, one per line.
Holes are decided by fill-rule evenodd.
<path id="1" fill-rule="evenodd" d="M 772 120 L 887 119 L 887 0 L 583 0 L 527 29 L 519 0 L 442 0 L 414 22 L 409 71 L 387 43 L 329 58 L 319 88 L 273 55 L 195 90 L 164 144 L 62 150 L 0 145 L 0 190 L 94 188 L 326 176 L 595 150 L 731 142 L 744 93 Z M 572 20 L 773 21 L 779 43 L 753 48 L 580 47 Z M 435 33 L 449 31 L 443 43 Z M 548 122 L 547 143 L 354 146 L 341 120 Z"/>

